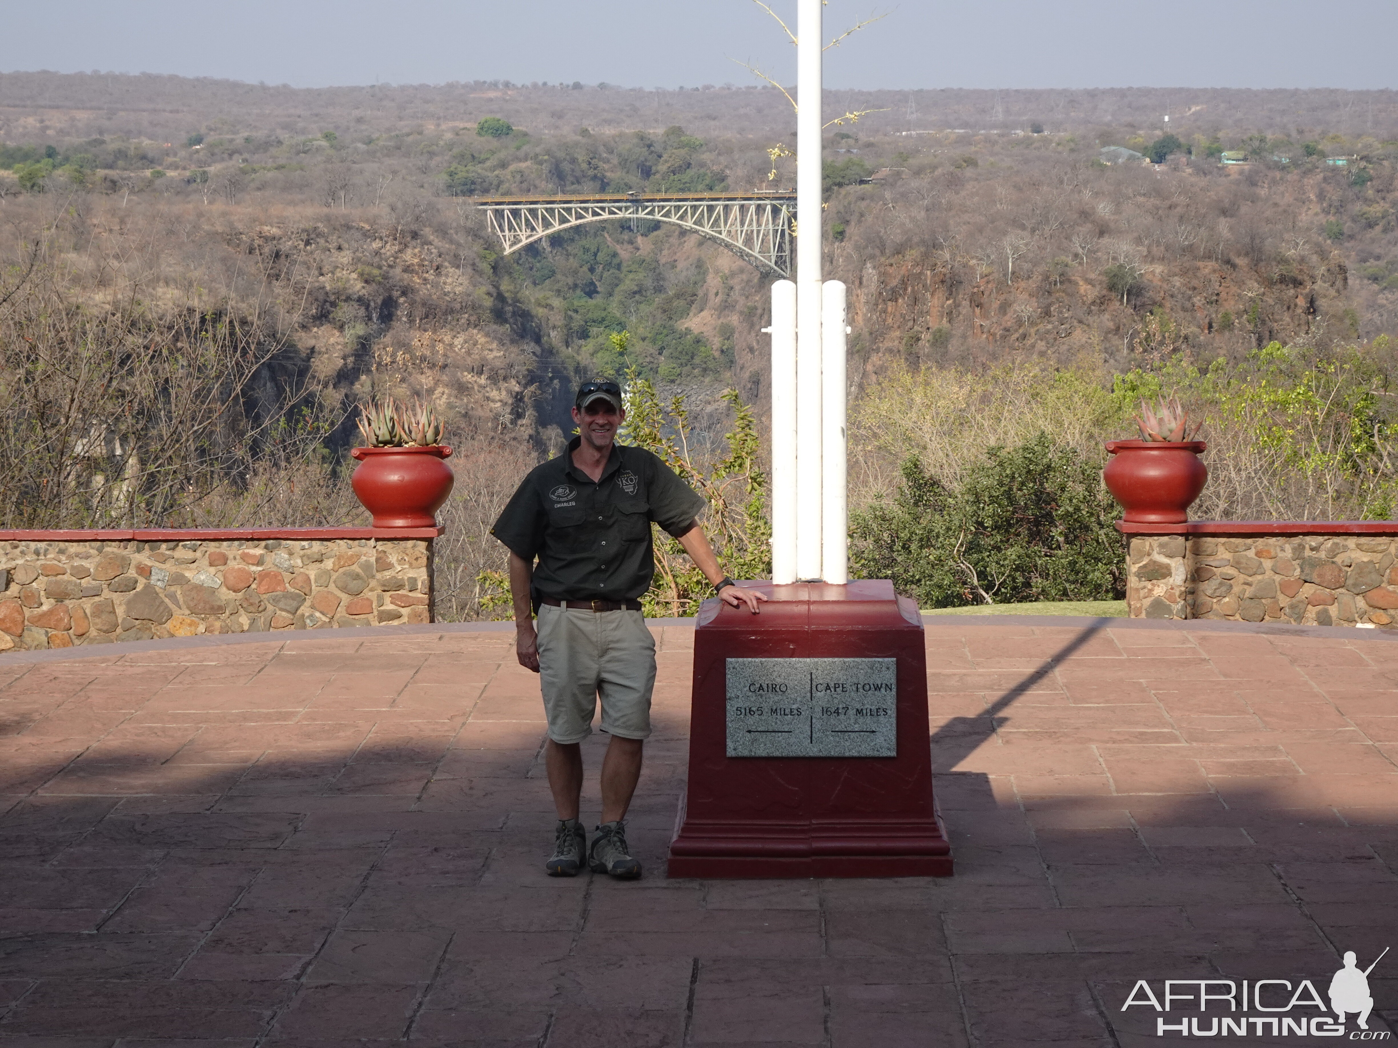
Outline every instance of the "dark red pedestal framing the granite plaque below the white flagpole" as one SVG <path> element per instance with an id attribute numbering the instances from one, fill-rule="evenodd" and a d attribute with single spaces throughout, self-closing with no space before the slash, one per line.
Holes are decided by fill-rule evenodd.
<path id="1" fill-rule="evenodd" d="M 917 606 L 882 580 L 744 585 L 770 598 L 761 615 L 717 598 L 699 612 L 689 785 L 668 875 L 951 876 L 951 845 L 932 809 L 927 655 Z M 896 660 L 896 756 L 727 756 L 727 661 L 755 658 Z M 788 696 L 788 708 L 800 710 L 809 697 Z M 811 734 L 814 739 L 814 727 Z"/>

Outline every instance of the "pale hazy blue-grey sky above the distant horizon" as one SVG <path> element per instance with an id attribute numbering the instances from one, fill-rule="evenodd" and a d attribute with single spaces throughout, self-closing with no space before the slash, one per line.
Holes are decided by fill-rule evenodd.
<path id="1" fill-rule="evenodd" d="M 772 0 L 794 28 L 793 0 Z M 1398 87 L 1398 0 L 830 0 L 835 88 Z M 295 87 L 513 80 L 790 82 L 751 0 L 0 0 L 0 70 L 229 77 Z"/>

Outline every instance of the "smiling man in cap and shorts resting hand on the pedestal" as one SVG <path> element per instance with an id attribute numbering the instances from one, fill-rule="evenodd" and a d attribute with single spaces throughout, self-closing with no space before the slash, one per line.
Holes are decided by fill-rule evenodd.
<path id="1" fill-rule="evenodd" d="M 703 499 L 650 451 L 617 443 L 625 418 L 617 383 L 582 386 L 573 400 L 580 436 L 524 478 L 491 528 L 510 551 L 514 651 L 521 667 L 540 675 L 548 714 L 545 764 L 558 827 L 544 868 L 555 878 L 576 876 L 584 862 L 594 873 L 640 876 L 624 820 L 640 778 L 656 683 L 656 641 L 640 612 L 656 572 L 651 521 L 679 539 L 727 604 L 756 615 L 758 601 L 766 599 L 723 574 L 696 521 Z M 589 851 L 577 817 L 580 743 L 593 731 L 598 694 L 611 742 L 603 759 L 601 823 Z"/>

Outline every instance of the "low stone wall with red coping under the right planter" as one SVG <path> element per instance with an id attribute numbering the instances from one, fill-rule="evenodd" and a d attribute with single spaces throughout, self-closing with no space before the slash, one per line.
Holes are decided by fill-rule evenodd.
<path id="1" fill-rule="evenodd" d="M 1187 527 L 1192 534 L 1131 535 L 1127 605 L 1132 618 L 1398 623 L 1398 534 L 1317 521 L 1304 527 L 1320 534 L 1229 535 L 1229 525 L 1213 521 Z M 1282 527 L 1303 525 L 1272 524 L 1274 532 Z M 1335 532 L 1324 534 L 1327 527 Z M 1380 527 L 1398 532 L 1391 523 Z M 1199 534 L 1208 531 L 1222 534 Z"/>

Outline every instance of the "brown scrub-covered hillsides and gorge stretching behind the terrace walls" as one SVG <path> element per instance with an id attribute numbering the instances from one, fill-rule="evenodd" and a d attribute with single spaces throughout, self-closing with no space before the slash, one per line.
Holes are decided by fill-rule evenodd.
<path id="1" fill-rule="evenodd" d="M 888 110 L 832 127 L 825 168 L 868 570 L 899 493 L 1000 534 L 952 511 L 1004 488 L 976 470 L 1018 463 L 1054 503 L 1159 391 L 1208 419 L 1204 514 L 1394 511 L 1398 103 L 1180 94 L 1170 136 L 1149 91 L 916 92 L 916 117 L 906 95 L 828 98 Z M 682 394 L 700 457 L 726 454 L 724 388 L 765 425 L 769 278 L 646 222 L 503 256 L 471 198 L 788 186 L 774 89 L 0 74 L 0 525 L 354 520 L 352 404 L 424 395 L 460 449 L 440 611 L 475 615 L 489 520 L 562 447 L 579 379 L 629 369 Z M 1109 145 L 1162 162 L 1106 163 Z M 1107 542 L 1110 504 L 1075 504 L 1072 527 Z M 1064 528 L 1050 514 L 1016 556 L 1044 559 Z M 938 534 L 920 556 L 955 546 Z M 1113 595 L 1079 567 L 1053 577 L 1093 592 L 1044 581 L 1019 599 Z M 1004 598 L 963 576 L 927 599 Z"/>

